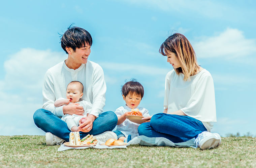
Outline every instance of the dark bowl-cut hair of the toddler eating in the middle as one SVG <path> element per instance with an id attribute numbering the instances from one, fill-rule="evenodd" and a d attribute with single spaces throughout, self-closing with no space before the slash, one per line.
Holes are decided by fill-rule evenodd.
<path id="1" fill-rule="evenodd" d="M 131 79 L 122 86 L 122 94 L 124 97 L 126 97 L 129 93 L 135 93 L 135 95 L 142 98 L 144 95 L 144 88 L 136 79 Z"/>

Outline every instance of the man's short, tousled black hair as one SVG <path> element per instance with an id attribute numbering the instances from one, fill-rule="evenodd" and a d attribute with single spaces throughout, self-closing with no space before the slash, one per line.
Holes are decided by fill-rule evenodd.
<path id="1" fill-rule="evenodd" d="M 61 47 L 66 52 L 66 47 L 71 47 L 75 52 L 76 48 L 84 47 L 86 44 L 92 46 L 91 34 L 83 28 L 75 27 L 71 24 L 68 30 L 61 35 Z"/>

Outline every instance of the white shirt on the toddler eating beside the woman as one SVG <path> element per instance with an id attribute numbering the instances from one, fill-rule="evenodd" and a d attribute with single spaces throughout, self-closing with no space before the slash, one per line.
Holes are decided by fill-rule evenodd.
<path id="1" fill-rule="evenodd" d="M 135 109 L 139 109 L 139 111 L 142 113 L 143 117 L 148 117 L 149 115 L 149 111 L 143 107 L 137 107 Z M 126 112 L 130 112 L 131 108 L 129 108 L 128 106 L 121 106 L 119 107 L 115 113 L 117 115 L 117 117 L 122 116 L 123 114 L 125 114 Z M 132 136 L 132 138 L 136 137 L 139 135 L 138 133 L 138 126 L 140 124 L 131 122 L 128 119 L 125 119 L 124 122 L 120 125 L 117 125 L 117 130 L 121 131 L 126 137 L 130 134 Z"/>

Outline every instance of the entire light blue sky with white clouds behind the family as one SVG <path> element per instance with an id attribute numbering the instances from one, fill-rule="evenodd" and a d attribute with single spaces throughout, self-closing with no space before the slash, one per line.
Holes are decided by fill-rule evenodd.
<path id="1" fill-rule="evenodd" d="M 0 135 L 44 134 L 32 116 L 42 106 L 46 70 L 67 58 L 59 34 L 74 23 L 93 37 L 89 60 L 104 70 L 104 111 L 124 105 L 121 85 L 131 78 L 145 88 L 140 106 L 151 115 L 163 111 L 164 79 L 172 67 L 158 50 L 178 32 L 213 76 L 218 122 L 212 132 L 256 136 L 255 1 L 4 1 L 1 6 Z"/>

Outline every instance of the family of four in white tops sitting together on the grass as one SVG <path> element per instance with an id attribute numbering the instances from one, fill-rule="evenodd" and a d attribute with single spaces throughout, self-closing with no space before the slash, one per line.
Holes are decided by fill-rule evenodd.
<path id="1" fill-rule="evenodd" d="M 159 52 L 167 56 L 174 70 L 165 77 L 163 113 L 153 116 L 138 107 L 144 89 L 135 80 L 122 87 L 125 106 L 115 113 L 103 112 L 106 84 L 102 68 L 88 60 L 92 46 L 88 31 L 70 26 L 62 35 L 61 46 L 68 58 L 47 70 L 43 107 L 33 116 L 36 126 L 46 132 L 46 145 L 69 141 L 70 130 L 79 131 L 81 138 L 95 135 L 102 142 L 109 138 L 129 142 L 145 135 L 165 137 L 174 143 L 195 138 L 203 150 L 220 145 L 220 135 L 210 132 L 216 122 L 213 79 L 197 64 L 195 51 L 184 35 L 174 33 L 160 46 Z M 138 109 L 145 122 L 136 124 L 126 119 L 132 109 Z"/>

